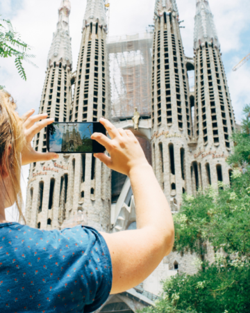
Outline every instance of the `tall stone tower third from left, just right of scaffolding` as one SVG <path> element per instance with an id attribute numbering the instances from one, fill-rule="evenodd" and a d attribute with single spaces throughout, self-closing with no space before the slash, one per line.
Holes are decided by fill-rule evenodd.
<path id="1" fill-rule="evenodd" d="M 188 143 L 192 138 L 190 91 L 176 0 L 156 0 L 152 66 L 153 169 L 172 210 L 191 193 Z"/>

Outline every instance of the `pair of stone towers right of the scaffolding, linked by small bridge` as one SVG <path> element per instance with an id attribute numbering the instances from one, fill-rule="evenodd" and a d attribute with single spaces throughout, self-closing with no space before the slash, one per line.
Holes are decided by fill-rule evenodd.
<path id="1" fill-rule="evenodd" d="M 171 5 L 172 3 L 172 5 Z M 156 1 L 152 65 L 153 169 L 172 211 L 183 193 L 229 183 L 235 127 L 219 40 L 208 1 L 197 0 L 194 63 L 185 57 L 175 1 Z M 188 70 L 195 72 L 194 94 Z M 193 114 L 192 114 L 193 112 Z"/>

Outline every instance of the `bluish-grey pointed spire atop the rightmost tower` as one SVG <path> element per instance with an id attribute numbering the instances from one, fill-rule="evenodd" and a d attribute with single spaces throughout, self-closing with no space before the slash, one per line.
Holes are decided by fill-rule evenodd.
<path id="1" fill-rule="evenodd" d="M 197 12 L 194 20 L 194 49 L 205 44 L 205 42 L 213 43 L 215 47 L 219 47 L 213 14 L 207 0 L 197 0 Z"/>

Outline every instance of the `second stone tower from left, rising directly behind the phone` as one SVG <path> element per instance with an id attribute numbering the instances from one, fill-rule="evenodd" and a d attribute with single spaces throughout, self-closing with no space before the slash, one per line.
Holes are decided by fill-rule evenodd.
<path id="1" fill-rule="evenodd" d="M 110 119 L 110 83 L 106 51 L 106 8 L 103 0 L 88 0 L 75 78 L 71 122 Z M 73 211 L 83 210 L 86 224 L 110 230 L 110 170 L 92 154 L 75 154 Z"/>

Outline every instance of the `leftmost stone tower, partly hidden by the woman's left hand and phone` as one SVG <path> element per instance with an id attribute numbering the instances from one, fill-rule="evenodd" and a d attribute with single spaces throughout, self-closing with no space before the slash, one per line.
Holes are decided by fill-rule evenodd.
<path id="1" fill-rule="evenodd" d="M 55 122 L 69 120 L 72 102 L 70 8 L 69 0 L 61 1 L 39 109 L 39 113 L 48 113 L 49 117 L 55 118 Z M 43 129 L 35 136 L 36 151 L 47 152 L 46 131 Z M 62 154 L 57 160 L 31 164 L 25 214 L 28 225 L 44 230 L 62 225 L 67 203 L 68 169 L 68 156 Z"/>

